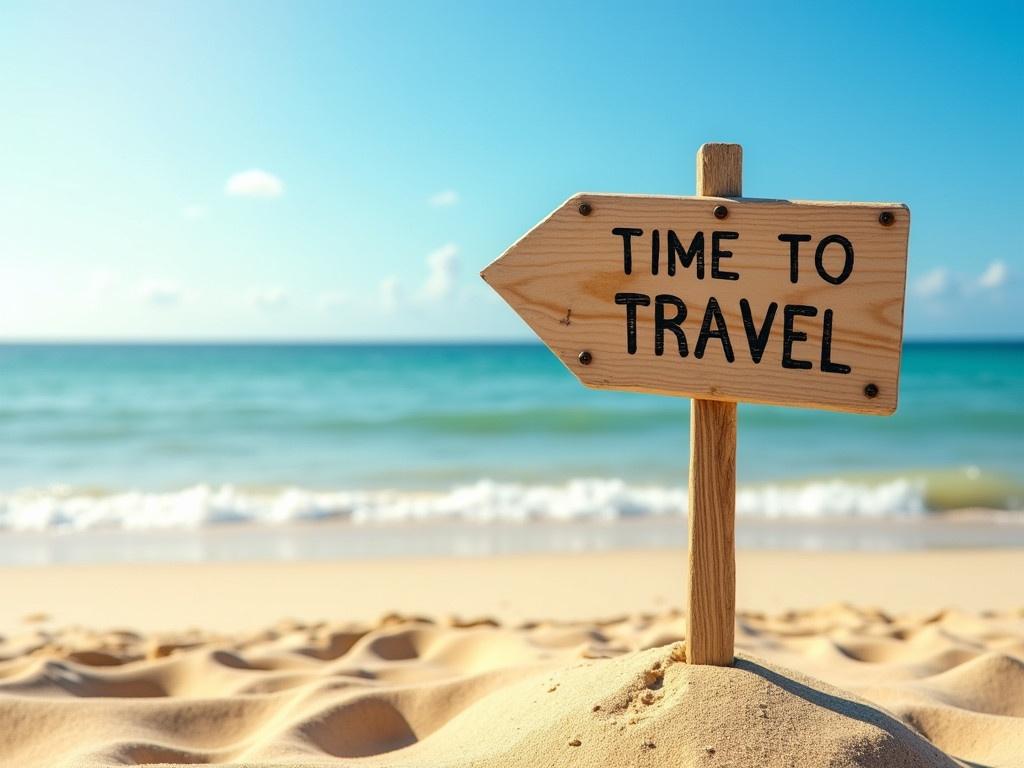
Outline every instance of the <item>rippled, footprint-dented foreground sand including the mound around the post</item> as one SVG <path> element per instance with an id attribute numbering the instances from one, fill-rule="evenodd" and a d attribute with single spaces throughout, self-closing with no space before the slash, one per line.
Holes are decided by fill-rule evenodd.
<path id="1" fill-rule="evenodd" d="M 35 623 L 0 639 L 0 765 L 1024 766 L 1022 613 L 836 605 L 737 629 L 719 669 L 681 660 L 677 612 L 237 636 Z"/>

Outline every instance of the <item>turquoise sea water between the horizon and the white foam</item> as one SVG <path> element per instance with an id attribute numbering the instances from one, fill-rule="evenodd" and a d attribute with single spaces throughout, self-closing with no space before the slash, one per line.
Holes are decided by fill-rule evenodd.
<path id="1" fill-rule="evenodd" d="M 202 501 L 226 518 L 243 490 L 675 488 L 688 410 L 585 389 L 532 344 L 4 345 L 0 526 L 3 504 L 8 525 L 26 500 L 55 524 L 90 514 L 84 499 L 196 486 L 232 488 Z M 1024 343 L 907 344 L 890 418 L 741 406 L 738 472 L 744 487 L 901 479 L 927 510 L 1020 509 Z M 78 507 L 54 513 L 54 498 Z"/>

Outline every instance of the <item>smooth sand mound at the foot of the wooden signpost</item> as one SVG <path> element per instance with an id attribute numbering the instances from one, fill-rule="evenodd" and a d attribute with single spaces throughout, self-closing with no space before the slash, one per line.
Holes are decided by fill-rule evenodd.
<path id="1" fill-rule="evenodd" d="M 750 657 L 693 667 L 682 653 L 676 644 L 587 662 L 498 691 L 424 741 L 433 759 L 424 764 L 956 765 L 891 715 L 821 682 Z"/>

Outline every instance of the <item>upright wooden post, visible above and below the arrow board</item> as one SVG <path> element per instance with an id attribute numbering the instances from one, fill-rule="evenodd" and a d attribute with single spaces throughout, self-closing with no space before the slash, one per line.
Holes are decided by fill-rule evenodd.
<path id="1" fill-rule="evenodd" d="M 742 195 L 739 144 L 697 152 L 697 195 Z M 691 400 L 686 660 L 727 667 L 736 621 L 736 403 Z"/>

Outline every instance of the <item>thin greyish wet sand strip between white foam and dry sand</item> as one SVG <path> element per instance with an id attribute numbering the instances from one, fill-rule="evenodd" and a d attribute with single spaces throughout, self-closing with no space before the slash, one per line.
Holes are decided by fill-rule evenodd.
<path id="1" fill-rule="evenodd" d="M 892 552 L 1024 548 L 1024 515 L 962 510 L 919 518 L 736 520 L 738 549 Z M 612 521 L 352 524 L 340 520 L 196 528 L 0 532 L 0 566 L 86 563 L 332 561 L 561 552 L 664 551 L 686 546 L 684 516 Z"/>

